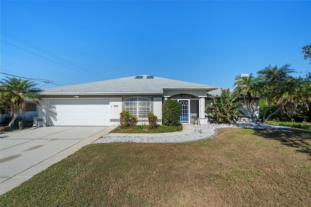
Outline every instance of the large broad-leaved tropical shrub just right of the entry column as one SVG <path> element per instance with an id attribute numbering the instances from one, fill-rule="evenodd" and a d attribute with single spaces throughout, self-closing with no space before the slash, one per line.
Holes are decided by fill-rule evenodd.
<path id="1" fill-rule="evenodd" d="M 237 100 L 238 95 L 230 92 L 229 89 L 221 89 L 220 99 L 212 97 L 213 103 L 207 104 L 206 112 L 214 123 L 236 124 L 242 114 L 242 104 Z"/>

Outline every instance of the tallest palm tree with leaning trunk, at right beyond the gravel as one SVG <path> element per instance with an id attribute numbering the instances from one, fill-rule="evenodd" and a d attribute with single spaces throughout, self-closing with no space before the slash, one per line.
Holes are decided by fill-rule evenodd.
<path id="1" fill-rule="evenodd" d="M 262 78 L 261 89 L 263 92 L 263 98 L 267 100 L 268 106 L 265 109 L 265 112 L 262 116 L 262 121 L 266 122 L 266 114 L 271 106 L 272 103 L 277 102 L 277 94 L 275 93 L 276 90 L 282 89 L 286 80 L 290 77 L 290 73 L 295 72 L 294 69 L 290 68 L 291 65 L 285 64 L 280 68 L 277 66 L 266 67 L 265 69 L 261 69 L 257 72 L 259 76 Z M 271 116 L 269 116 L 270 118 Z"/>

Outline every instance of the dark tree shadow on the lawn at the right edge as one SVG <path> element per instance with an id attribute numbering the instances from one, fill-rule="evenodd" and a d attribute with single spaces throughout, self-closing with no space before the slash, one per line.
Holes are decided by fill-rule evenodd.
<path id="1" fill-rule="evenodd" d="M 304 129 L 289 129 L 291 132 L 282 132 L 277 129 L 255 129 L 255 135 L 278 140 L 282 144 L 296 148 L 297 152 L 311 156 L 311 131 Z"/>

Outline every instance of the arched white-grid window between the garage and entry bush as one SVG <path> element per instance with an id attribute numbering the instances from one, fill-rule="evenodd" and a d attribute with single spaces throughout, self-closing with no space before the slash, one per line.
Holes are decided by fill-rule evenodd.
<path id="1" fill-rule="evenodd" d="M 148 119 L 151 108 L 151 99 L 145 97 L 132 97 L 125 99 L 125 110 L 130 112 L 130 116 L 139 119 Z"/>

